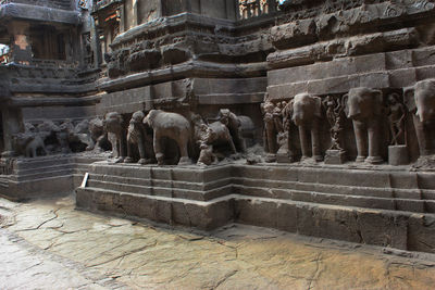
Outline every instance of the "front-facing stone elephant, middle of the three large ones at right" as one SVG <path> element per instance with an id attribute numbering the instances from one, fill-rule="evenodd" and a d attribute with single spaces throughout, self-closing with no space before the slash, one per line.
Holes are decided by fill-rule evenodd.
<path id="1" fill-rule="evenodd" d="M 382 91 L 365 87 L 352 88 L 344 96 L 343 103 L 346 116 L 353 123 L 358 151 L 357 162 L 382 163 L 380 150 Z"/>

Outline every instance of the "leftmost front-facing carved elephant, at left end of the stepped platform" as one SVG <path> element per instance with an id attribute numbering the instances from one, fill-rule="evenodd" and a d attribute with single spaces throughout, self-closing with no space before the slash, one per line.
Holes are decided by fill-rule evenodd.
<path id="1" fill-rule="evenodd" d="M 109 141 L 112 143 L 113 157 L 115 162 L 123 162 L 126 154 L 126 138 L 123 127 L 124 119 L 117 112 L 105 114 L 103 121 L 104 130 L 110 135 Z"/>

